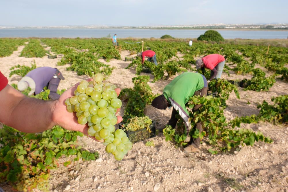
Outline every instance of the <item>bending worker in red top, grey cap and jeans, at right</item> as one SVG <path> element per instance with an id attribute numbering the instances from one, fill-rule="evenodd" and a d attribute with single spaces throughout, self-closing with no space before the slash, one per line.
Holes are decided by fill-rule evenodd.
<path id="1" fill-rule="evenodd" d="M 196 60 L 196 69 L 204 69 L 205 67 L 211 70 L 211 76 L 209 81 L 211 81 L 212 79 L 221 78 L 224 65 L 225 58 L 219 54 L 207 55 L 201 59 Z"/>

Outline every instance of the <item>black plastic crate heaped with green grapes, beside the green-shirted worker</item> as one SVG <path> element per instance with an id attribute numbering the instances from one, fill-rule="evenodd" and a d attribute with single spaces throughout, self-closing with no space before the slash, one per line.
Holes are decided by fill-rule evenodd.
<path id="1" fill-rule="evenodd" d="M 127 137 L 132 143 L 143 141 L 145 139 L 149 139 L 156 136 L 156 123 L 154 121 L 152 121 L 152 124 L 150 125 L 151 132 L 147 131 L 146 128 L 137 131 L 125 130 L 123 127 L 123 123 L 119 123 L 119 129 L 123 129 L 125 131 Z"/>

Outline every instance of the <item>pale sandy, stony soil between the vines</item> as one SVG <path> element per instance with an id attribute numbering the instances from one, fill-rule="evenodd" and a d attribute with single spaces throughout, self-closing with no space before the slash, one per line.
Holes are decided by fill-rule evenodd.
<path id="1" fill-rule="evenodd" d="M 37 66 L 57 67 L 66 78 L 60 82 L 59 89 L 68 88 L 87 76 L 77 76 L 73 71 L 66 71 L 69 66 L 56 66 L 60 58 L 23 58 L 19 57 L 24 46 L 20 46 L 11 56 L 0 58 L 0 70 L 9 76 L 10 67 L 16 64 L 30 66 L 35 60 Z M 125 69 L 130 62 L 124 62 L 128 51 L 122 51 L 122 60 L 111 60 L 108 64 L 116 69 L 108 78 L 120 88 L 132 88 L 132 77 L 135 70 Z M 104 60 L 101 62 L 106 63 Z M 144 75 L 141 74 L 141 75 Z M 146 74 L 147 75 L 147 74 Z M 148 74 L 153 77 L 151 74 Z M 223 74 L 225 79 L 243 79 L 242 75 Z M 21 77 L 16 75 L 9 78 L 9 83 L 17 83 Z M 173 77 L 149 82 L 154 93 L 161 93 Z M 257 103 L 270 101 L 272 96 L 288 94 L 287 83 L 277 80 L 269 92 L 243 91 L 239 88 L 240 98 L 230 95 L 225 115 L 228 120 L 242 115 L 259 113 Z M 247 104 L 247 102 L 250 104 Z M 147 106 L 146 114 L 165 125 L 171 115 L 170 110 L 158 110 Z M 123 113 L 120 111 L 120 114 Z M 253 147 L 242 147 L 240 151 L 211 155 L 206 140 L 200 151 L 184 154 L 171 142 L 166 142 L 160 133 L 151 138 L 155 147 L 145 146 L 145 141 L 134 144 L 133 149 L 122 161 L 116 161 L 113 156 L 105 153 L 104 146 L 86 137 L 79 138 L 79 145 L 89 151 L 98 151 L 96 161 L 76 161 L 68 168 L 62 166 L 52 170 L 50 191 L 287 191 L 288 189 L 288 127 L 270 123 L 243 124 L 243 128 L 251 128 L 270 136 L 273 144 L 257 142 Z M 70 159 L 72 159 L 71 157 Z M 69 158 L 61 158 L 59 163 Z M 0 186 L 5 191 L 12 191 L 9 185 Z M 34 191 L 39 191 L 35 189 Z"/>

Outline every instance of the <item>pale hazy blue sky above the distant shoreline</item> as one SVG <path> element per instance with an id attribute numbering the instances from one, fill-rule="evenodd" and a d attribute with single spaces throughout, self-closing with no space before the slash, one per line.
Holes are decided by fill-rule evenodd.
<path id="1" fill-rule="evenodd" d="M 2 26 L 288 23 L 288 0 L 0 0 Z"/>

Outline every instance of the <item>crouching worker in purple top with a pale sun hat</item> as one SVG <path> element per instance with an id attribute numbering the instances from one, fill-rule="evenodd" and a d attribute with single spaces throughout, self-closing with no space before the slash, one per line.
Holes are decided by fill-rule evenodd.
<path id="1" fill-rule="evenodd" d="M 52 67 L 38 67 L 23 77 L 18 83 L 18 90 L 24 91 L 28 87 L 31 88 L 28 96 L 39 94 L 44 87 L 50 90 L 49 98 L 56 100 L 60 97 L 57 94 L 57 88 L 60 80 L 64 80 L 62 73 Z"/>

